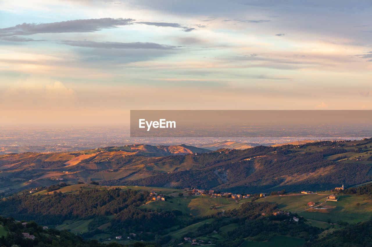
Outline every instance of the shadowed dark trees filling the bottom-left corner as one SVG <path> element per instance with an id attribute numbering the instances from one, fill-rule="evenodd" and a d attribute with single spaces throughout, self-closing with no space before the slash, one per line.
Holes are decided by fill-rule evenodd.
<path id="1" fill-rule="evenodd" d="M 130 245 L 118 243 L 102 244 L 97 240 L 86 241 L 67 230 L 59 231 L 53 228 L 43 229 L 35 221 L 29 221 L 26 225 L 22 222 L 16 222 L 14 218 L 0 217 L 1 228 L 6 230 L 7 234 L 0 237 L 0 246 L 22 246 L 22 247 L 160 247 L 156 243 L 137 242 Z M 28 233 L 32 238 L 25 238 L 22 233 Z"/>

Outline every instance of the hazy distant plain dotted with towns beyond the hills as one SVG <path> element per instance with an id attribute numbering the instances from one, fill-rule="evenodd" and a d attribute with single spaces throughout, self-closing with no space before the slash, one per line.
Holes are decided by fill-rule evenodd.
<path id="1" fill-rule="evenodd" d="M 201 146 L 234 141 L 274 145 L 303 140 L 355 140 L 372 136 L 371 125 L 229 125 L 203 129 L 217 137 L 131 138 L 123 126 L 0 126 L 0 154 L 21 152 L 70 152 L 128 144 Z M 202 135 L 198 128 L 194 129 Z M 201 132 L 201 133 L 200 133 Z M 227 134 L 228 133 L 228 134 Z M 243 134 L 242 134 L 243 133 Z M 218 137 L 225 136 L 225 137 Z M 227 136 L 227 137 L 226 137 Z M 237 137 L 238 136 L 238 137 Z"/>

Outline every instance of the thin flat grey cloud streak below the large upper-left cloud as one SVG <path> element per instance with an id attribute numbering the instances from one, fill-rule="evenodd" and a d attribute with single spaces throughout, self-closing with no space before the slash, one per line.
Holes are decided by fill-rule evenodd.
<path id="1" fill-rule="evenodd" d="M 96 41 L 75 41 L 75 40 L 60 40 L 60 43 L 69 46 L 90 47 L 90 48 L 105 48 L 105 49 L 174 49 L 176 46 L 160 45 L 151 42 L 96 42 Z"/>

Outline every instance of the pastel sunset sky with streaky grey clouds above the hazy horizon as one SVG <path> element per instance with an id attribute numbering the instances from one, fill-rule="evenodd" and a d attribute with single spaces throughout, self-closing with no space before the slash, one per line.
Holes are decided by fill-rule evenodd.
<path id="1" fill-rule="evenodd" d="M 371 110 L 371 84 L 370 0 L 0 0 L 4 124 Z"/>

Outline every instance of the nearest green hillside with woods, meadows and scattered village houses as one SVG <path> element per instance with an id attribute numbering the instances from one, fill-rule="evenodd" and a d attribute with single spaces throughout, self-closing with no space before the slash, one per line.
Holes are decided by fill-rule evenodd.
<path id="1" fill-rule="evenodd" d="M 12 218 L 0 217 L 6 227 L 0 227 L 0 236 L 5 236 L 0 243 L 26 246 L 20 233 L 28 232 L 37 240 L 27 240 L 27 246 L 55 240 L 49 246 L 57 246 L 57 242 L 61 246 L 73 246 L 80 242 L 79 246 L 108 244 L 118 247 L 116 243 L 119 243 L 133 247 L 160 244 L 175 247 L 182 243 L 182 246 L 191 246 L 192 239 L 199 244 L 211 242 L 209 244 L 215 246 L 232 247 L 315 246 L 316 243 L 330 243 L 330 240 L 337 241 L 337 246 L 342 243 L 359 246 L 359 238 L 340 238 L 353 231 L 356 231 L 353 234 L 363 233 L 359 234 L 363 238 L 360 246 L 372 243 L 371 238 L 364 236 L 371 229 L 372 200 L 366 197 L 371 195 L 371 184 L 350 188 L 345 191 L 347 195 L 337 194 L 340 197 L 337 202 L 324 201 L 331 191 L 264 198 L 256 194 L 248 199 L 234 200 L 230 196 L 190 196 L 189 191 L 173 188 L 61 186 L 47 190 L 39 188 L 34 194 L 22 191 L 0 201 L 3 215 L 28 220 L 23 226 Z M 149 191 L 161 194 L 166 200 L 151 200 Z M 309 201 L 317 202 L 318 208 L 322 209 L 305 210 L 304 204 Z M 34 221 L 49 229 L 43 230 Z M 355 222 L 362 223 L 353 224 Z M 18 236 L 13 232 L 8 234 L 9 229 L 18 231 Z M 51 237 L 46 238 L 48 235 Z M 124 238 L 117 240 L 115 236 Z M 65 241 L 72 243 L 69 245 Z M 155 243 L 140 245 L 139 241 Z"/>

